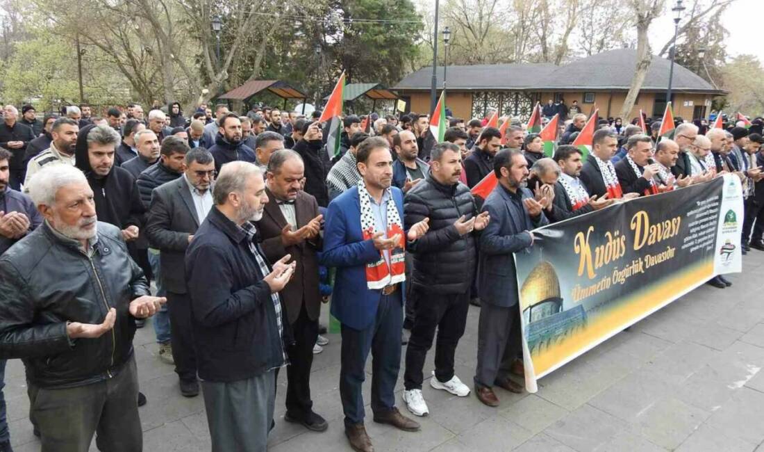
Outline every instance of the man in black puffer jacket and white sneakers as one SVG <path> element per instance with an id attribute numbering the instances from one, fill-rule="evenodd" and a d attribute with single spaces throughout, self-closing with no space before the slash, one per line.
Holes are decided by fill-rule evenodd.
<path id="1" fill-rule="evenodd" d="M 425 415 L 422 368 L 435 328 L 435 377 L 430 385 L 464 397 L 467 385 L 454 375 L 456 345 L 465 332 L 469 292 L 477 262 L 474 233 L 487 226 L 487 213 L 478 215 L 469 188 L 459 183 L 461 151 L 439 143 L 430 151 L 430 172 L 406 193 L 404 224 L 429 218 L 429 231 L 406 248 L 414 255 L 411 277 L 416 292 L 416 315 L 406 349 L 403 401 L 415 415 Z"/>

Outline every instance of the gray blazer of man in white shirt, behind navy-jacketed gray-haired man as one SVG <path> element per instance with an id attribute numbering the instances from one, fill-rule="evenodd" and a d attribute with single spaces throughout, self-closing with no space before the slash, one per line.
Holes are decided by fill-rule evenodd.
<path id="1" fill-rule="evenodd" d="M 199 224 L 185 177 L 178 177 L 154 189 L 145 227 L 146 236 L 151 247 L 160 250 L 162 281 L 170 292 L 186 293 L 183 259 L 189 246 L 189 235 L 196 233 Z"/>

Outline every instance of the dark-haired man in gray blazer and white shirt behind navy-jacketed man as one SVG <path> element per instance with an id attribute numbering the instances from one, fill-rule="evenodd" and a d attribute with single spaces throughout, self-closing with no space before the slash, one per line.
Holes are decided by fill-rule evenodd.
<path id="1" fill-rule="evenodd" d="M 192 149 L 186 153 L 183 176 L 154 189 L 146 224 L 148 241 L 162 256 L 160 274 L 167 291 L 175 372 L 186 397 L 199 395 L 199 382 L 184 258 L 196 229 L 212 208 L 214 180 L 212 154 L 204 148 Z"/>

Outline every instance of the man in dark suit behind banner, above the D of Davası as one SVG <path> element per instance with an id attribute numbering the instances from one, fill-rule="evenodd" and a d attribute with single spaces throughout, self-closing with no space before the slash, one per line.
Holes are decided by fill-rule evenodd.
<path id="1" fill-rule="evenodd" d="M 637 193 L 639 196 L 658 193 L 659 182 L 653 177 L 659 167 L 652 161 L 652 139 L 647 135 L 631 135 L 626 141 L 626 151 L 626 157 L 614 165 L 623 193 Z M 632 162 L 639 174 L 634 171 Z"/>

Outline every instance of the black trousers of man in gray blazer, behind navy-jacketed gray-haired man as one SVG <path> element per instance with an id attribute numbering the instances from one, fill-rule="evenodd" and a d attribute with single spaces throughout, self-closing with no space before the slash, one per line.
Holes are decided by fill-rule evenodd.
<path id="1" fill-rule="evenodd" d="M 170 314 L 170 343 L 173 346 L 175 373 L 182 380 L 196 380 L 196 349 L 193 345 L 191 304 L 188 294 L 167 291 L 167 311 Z"/>

